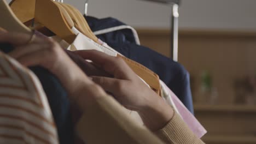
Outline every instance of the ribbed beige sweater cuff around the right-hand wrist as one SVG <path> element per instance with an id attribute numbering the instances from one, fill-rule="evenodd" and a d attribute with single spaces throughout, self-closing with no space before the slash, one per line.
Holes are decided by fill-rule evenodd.
<path id="1" fill-rule="evenodd" d="M 171 121 L 155 134 L 165 143 L 203 144 L 176 112 Z"/>

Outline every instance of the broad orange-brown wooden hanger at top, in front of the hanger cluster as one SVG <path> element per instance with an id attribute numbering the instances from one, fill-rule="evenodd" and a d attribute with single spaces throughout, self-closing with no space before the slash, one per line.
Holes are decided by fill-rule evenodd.
<path id="1" fill-rule="evenodd" d="M 30 24 L 34 19 L 51 32 L 71 44 L 76 35 L 71 27 L 74 26 L 67 11 L 51 0 L 13 0 L 10 7 L 22 22 Z M 47 8 L 47 9 L 45 9 Z M 42 28 L 43 26 L 38 26 Z M 45 28 L 44 28 L 45 31 Z"/>

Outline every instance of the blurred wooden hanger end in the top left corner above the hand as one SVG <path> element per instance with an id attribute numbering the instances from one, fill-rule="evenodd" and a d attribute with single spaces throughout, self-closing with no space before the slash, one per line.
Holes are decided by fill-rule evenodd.
<path id="1" fill-rule="evenodd" d="M 31 30 L 15 16 L 5 0 L 0 1 L 0 20 L 0 27 L 8 32 L 31 33 Z"/>

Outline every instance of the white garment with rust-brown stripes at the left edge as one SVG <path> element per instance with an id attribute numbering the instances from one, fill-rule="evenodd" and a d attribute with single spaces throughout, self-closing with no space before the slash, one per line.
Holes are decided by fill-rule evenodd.
<path id="1" fill-rule="evenodd" d="M 0 143 L 59 143 L 36 75 L 2 52 L 0 75 Z"/>

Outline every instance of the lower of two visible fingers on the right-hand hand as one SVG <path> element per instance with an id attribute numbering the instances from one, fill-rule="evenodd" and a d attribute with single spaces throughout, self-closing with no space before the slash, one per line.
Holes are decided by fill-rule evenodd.
<path id="1" fill-rule="evenodd" d="M 92 81 L 100 85 L 105 91 L 110 92 L 114 95 L 121 95 L 120 87 L 121 83 L 124 80 L 114 79 L 110 77 L 102 77 L 102 76 L 91 76 Z"/>

